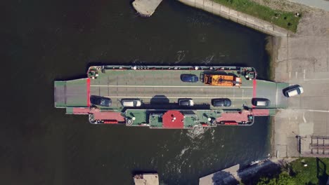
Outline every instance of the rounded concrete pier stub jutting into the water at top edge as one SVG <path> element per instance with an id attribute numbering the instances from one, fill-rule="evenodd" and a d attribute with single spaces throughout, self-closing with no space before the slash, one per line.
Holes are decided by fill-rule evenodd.
<path id="1" fill-rule="evenodd" d="M 150 17 L 162 0 L 135 0 L 132 5 L 139 15 Z"/>

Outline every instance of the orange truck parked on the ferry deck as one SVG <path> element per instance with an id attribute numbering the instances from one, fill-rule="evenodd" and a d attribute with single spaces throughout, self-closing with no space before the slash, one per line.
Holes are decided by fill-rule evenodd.
<path id="1" fill-rule="evenodd" d="M 231 75 L 205 74 L 205 84 L 217 86 L 240 86 L 241 78 Z"/>

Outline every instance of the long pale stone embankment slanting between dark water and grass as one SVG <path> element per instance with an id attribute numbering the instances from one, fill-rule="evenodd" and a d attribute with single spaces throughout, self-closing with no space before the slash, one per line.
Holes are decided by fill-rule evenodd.
<path id="1" fill-rule="evenodd" d="M 221 4 L 217 4 L 211 0 L 178 0 L 178 1 L 188 6 L 193 6 L 195 8 L 200 8 L 203 11 L 213 13 L 214 15 L 219 15 L 223 18 L 232 20 L 241 25 L 245 25 L 247 27 L 257 29 L 258 31 L 264 32 L 265 34 L 270 34 L 273 36 L 288 36 L 288 34 L 290 33 L 281 27 L 271 24 L 270 22 L 260 20 L 259 18 L 254 18 L 251 15 L 247 15 L 245 13 L 240 13 L 226 6 L 222 6 Z"/>

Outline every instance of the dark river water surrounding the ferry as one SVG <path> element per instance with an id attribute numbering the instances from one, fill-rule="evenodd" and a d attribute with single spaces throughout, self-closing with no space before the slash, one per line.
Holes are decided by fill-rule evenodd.
<path id="1" fill-rule="evenodd" d="M 162 184 L 266 158 L 270 119 L 250 127 L 188 130 L 91 125 L 53 107 L 53 81 L 91 64 L 240 65 L 268 78 L 266 35 L 176 1 L 140 18 L 130 1 L 8 1 L 1 51 L 1 184 L 132 184 L 157 171 Z"/>

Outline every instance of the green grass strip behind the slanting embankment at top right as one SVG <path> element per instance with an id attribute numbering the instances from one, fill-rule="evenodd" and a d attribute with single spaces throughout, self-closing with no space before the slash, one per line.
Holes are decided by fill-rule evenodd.
<path id="1" fill-rule="evenodd" d="M 276 11 L 249 0 L 214 0 L 214 2 L 233 8 L 236 11 L 247 13 L 256 18 L 266 20 L 267 22 L 271 22 L 274 25 L 283 27 L 294 33 L 297 31 L 300 18 L 296 17 L 295 13 Z"/>

